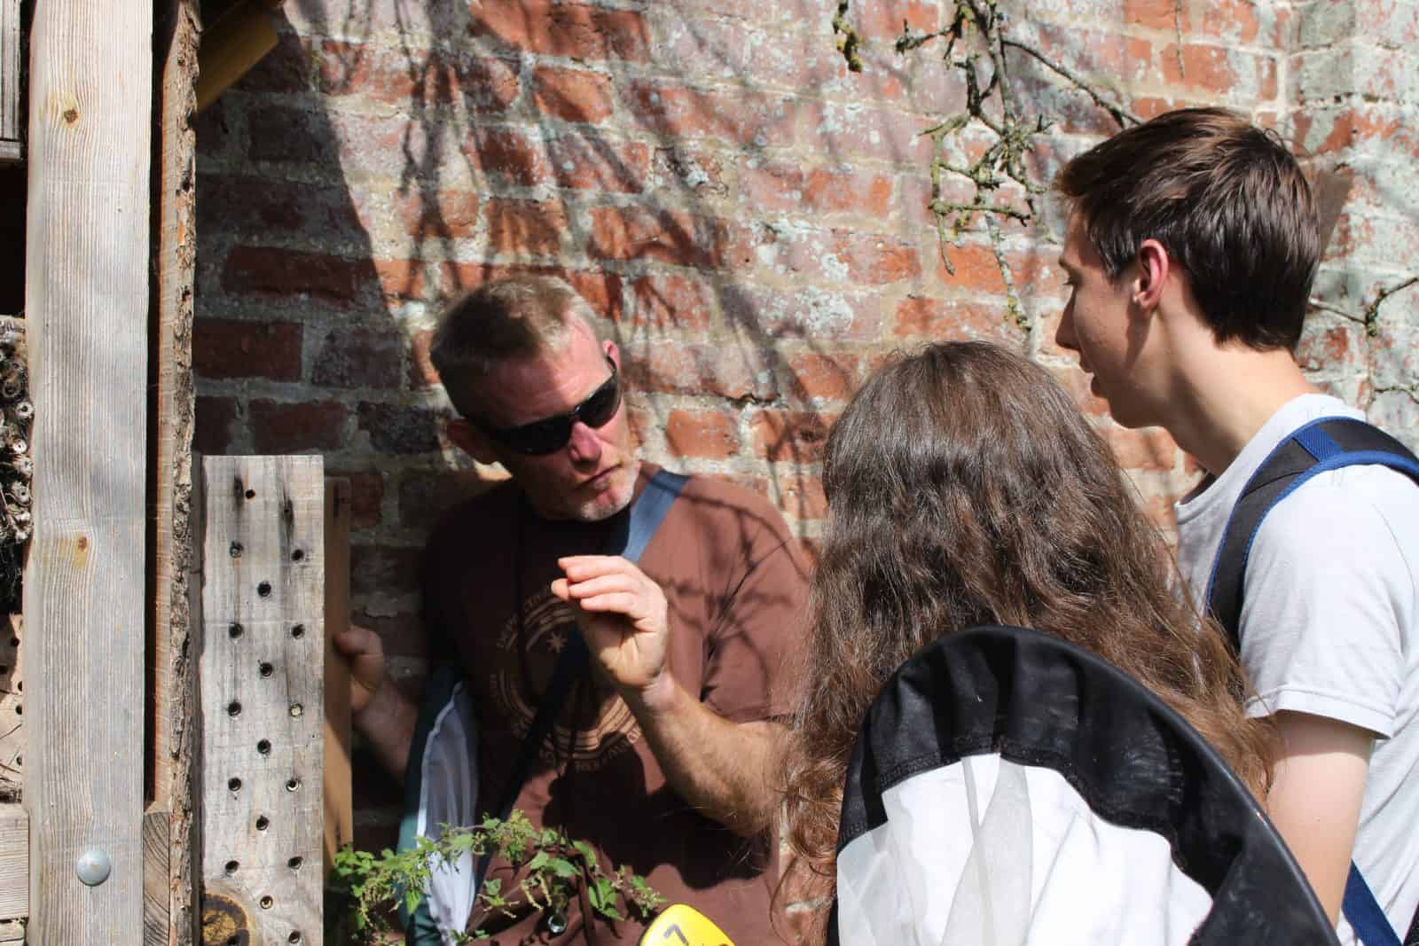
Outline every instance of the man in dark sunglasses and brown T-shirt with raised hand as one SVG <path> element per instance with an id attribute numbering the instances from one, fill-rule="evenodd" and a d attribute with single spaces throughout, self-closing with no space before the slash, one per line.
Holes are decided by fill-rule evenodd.
<path id="1" fill-rule="evenodd" d="M 735 942 L 773 942 L 775 678 L 800 640 L 806 569 L 773 506 L 701 478 L 637 563 L 606 555 L 656 469 L 637 455 L 620 352 L 593 318 L 565 282 L 521 277 L 455 302 L 434 335 L 461 414 L 448 438 L 511 474 L 446 515 L 424 562 L 430 647 L 455 654 L 477 706 L 477 810 L 515 796 L 535 824 L 587 840 L 607 872 L 627 864 Z M 509 789 L 575 635 L 589 672 Z M 341 644 L 365 691 L 356 725 L 402 776 L 416 709 L 383 677 L 377 637 L 356 628 Z M 498 861 L 488 878 L 518 881 Z M 639 925 L 585 920 L 579 906 L 475 925 L 507 943 L 639 942 Z"/>

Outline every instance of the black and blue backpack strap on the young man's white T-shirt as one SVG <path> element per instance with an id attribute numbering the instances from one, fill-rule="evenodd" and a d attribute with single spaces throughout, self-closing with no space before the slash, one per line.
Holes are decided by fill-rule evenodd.
<path id="1" fill-rule="evenodd" d="M 1237 654 L 1242 652 L 1246 563 L 1261 521 L 1313 477 L 1361 465 L 1388 467 L 1419 484 L 1419 458 L 1389 434 L 1352 417 L 1321 417 L 1305 424 L 1283 440 L 1252 474 L 1232 508 L 1208 580 L 1208 613 L 1222 624 Z M 1364 946 L 1401 946 L 1354 862 L 1341 909 Z M 1419 929 L 1419 911 L 1413 929 Z"/>

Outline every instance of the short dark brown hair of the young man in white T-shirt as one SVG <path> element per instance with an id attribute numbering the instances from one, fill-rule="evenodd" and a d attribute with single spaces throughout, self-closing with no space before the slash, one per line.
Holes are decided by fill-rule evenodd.
<path id="1" fill-rule="evenodd" d="M 1054 180 L 1117 279 L 1156 240 L 1219 342 L 1294 349 L 1320 262 L 1310 184 L 1281 139 L 1220 108 L 1166 112 Z"/>

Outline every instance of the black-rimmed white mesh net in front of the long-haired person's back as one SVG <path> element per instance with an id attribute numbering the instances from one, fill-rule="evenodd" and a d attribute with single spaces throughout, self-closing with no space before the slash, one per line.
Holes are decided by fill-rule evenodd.
<path id="1" fill-rule="evenodd" d="M 868 712 L 830 943 L 1335 942 L 1222 759 L 1093 654 L 1022 628 L 949 634 Z"/>

